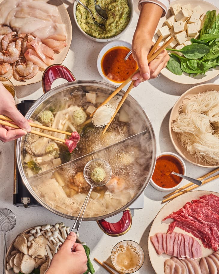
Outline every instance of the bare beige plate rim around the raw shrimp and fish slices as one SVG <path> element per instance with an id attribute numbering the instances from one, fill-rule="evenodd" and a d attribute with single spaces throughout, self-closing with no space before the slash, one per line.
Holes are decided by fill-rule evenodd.
<path id="1" fill-rule="evenodd" d="M 0 0 L 0 2 L 2 2 L 2 0 Z M 47 2 L 49 2 L 49 4 L 52 4 L 52 5 L 55 5 L 58 7 L 58 10 L 61 14 L 62 22 L 66 26 L 66 32 L 67 32 L 66 42 L 68 45 L 67 45 L 67 47 L 64 47 L 64 49 L 62 49 L 60 53 L 58 53 L 58 54 L 55 53 L 54 60 L 53 60 L 53 64 L 61 64 L 64 61 L 64 59 L 68 53 L 68 50 L 70 48 L 70 44 L 71 44 L 71 38 L 72 38 L 71 20 L 70 20 L 70 17 L 68 15 L 68 12 L 67 12 L 64 4 L 61 2 L 61 0 L 49 0 Z M 39 71 L 35 77 L 33 77 L 31 79 L 27 79 L 26 82 L 16 81 L 13 77 L 11 77 L 10 81 L 13 83 L 14 86 L 26 86 L 29 84 L 37 83 L 42 80 L 44 70 L 43 69 L 41 69 L 41 70 L 42 71 Z"/>

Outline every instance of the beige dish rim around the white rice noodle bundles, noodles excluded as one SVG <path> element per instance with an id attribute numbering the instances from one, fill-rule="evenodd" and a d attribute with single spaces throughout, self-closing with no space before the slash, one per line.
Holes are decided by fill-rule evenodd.
<path id="1" fill-rule="evenodd" d="M 194 155 L 191 155 L 187 152 L 186 149 L 182 147 L 182 145 L 177 141 L 176 136 L 177 134 L 173 132 L 171 128 L 172 121 L 176 118 L 176 115 L 179 114 L 179 106 L 182 105 L 183 99 L 187 96 L 193 98 L 194 96 L 198 95 L 199 93 L 205 92 L 207 90 L 217 90 L 219 92 L 219 85 L 216 84 L 202 84 L 199 86 L 195 86 L 191 89 L 188 89 L 186 92 L 183 93 L 176 101 L 175 105 L 173 106 L 171 113 L 170 113 L 170 120 L 169 120 L 169 132 L 170 132 L 170 139 L 175 147 L 176 151 L 181 155 L 185 160 L 190 162 L 191 164 L 196 164 L 199 167 L 219 167 L 213 165 L 205 165 L 203 162 L 199 161 L 195 158 Z"/>

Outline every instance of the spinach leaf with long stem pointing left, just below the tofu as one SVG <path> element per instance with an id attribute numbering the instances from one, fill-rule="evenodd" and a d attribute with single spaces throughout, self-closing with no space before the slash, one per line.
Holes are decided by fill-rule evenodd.
<path id="1" fill-rule="evenodd" d="M 198 59 L 210 52 L 210 48 L 203 44 L 191 44 L 183 47 L 181 50 L 167 49 L 182 52 L 188 59 Z"/>

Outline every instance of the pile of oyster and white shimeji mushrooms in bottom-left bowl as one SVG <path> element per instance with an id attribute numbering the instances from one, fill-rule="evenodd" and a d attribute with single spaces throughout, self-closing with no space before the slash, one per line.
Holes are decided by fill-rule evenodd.
<path id="1" fill-rule="evenodd" d="M 13 243 L 15 250 L 7 257 L 7 270 L 13 268 L 15 273 L 29 274 L 40 268 L 40 274 L 44 274 L 69 230 L 64 223 L 56 223 L 38 225 L 29 233 L 19 234 Z"/>

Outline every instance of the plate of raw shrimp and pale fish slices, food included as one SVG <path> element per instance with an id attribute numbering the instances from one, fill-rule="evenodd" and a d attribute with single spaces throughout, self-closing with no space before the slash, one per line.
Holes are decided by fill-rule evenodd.
<path id="1" fill-rule="evenodd" d="M 0 76 L 14 86 L 41 81 L 49 65 L 64 61 L 71 39 L 61 0 L 0 0 Z"/>

